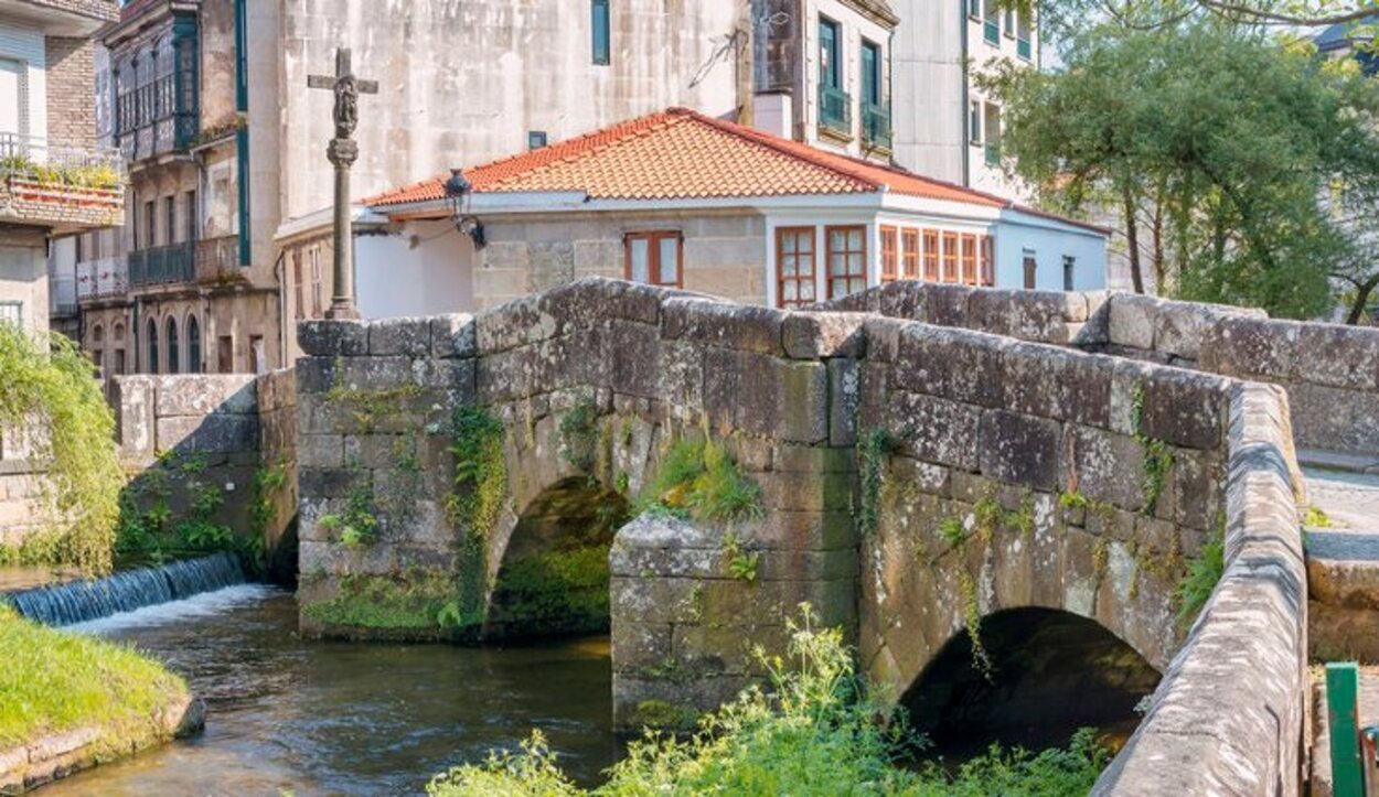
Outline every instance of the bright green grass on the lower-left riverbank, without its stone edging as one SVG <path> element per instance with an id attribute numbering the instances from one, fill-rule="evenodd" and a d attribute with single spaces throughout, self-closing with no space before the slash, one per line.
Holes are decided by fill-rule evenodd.
<path id="1" fill-rule="evenodd" d="M 186 684 L 134 649 L 63 633 L 0 605 L 0 750 L 91 725 L 128 749 Z"/>

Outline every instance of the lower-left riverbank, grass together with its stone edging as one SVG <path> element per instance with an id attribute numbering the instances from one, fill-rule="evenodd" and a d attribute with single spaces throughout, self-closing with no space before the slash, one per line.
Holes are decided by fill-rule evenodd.
<path id="1" fill-rule="evenodd" d="M 199 731 L 186 683 L 131 648 L 0 607 L 0 793 L 28 791 Z"/>

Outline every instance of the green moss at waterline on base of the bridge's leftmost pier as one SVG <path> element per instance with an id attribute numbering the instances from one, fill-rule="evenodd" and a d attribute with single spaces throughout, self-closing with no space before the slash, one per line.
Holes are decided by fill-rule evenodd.
<path id="1" fill-rule="evenodd" d="M 339 627 L 430 632 L 480 623 L 465 605 L 451 575 L 412 568 L 393 576 L 346 575 L 334 598 L 306 604 L 302 614 Z"/>

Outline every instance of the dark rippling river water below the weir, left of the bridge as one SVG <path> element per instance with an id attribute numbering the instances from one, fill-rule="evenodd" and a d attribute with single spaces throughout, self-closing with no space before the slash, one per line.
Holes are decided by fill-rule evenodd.
<path id="1" fill-rule="evenodd" d="M 619 754 L 607 637 L 505 647 L 296 638 L 296 601 L 237 586 L 73 626 L 186 677 L 205 732 L 43 789 L 62 794 L 416 794 L 494 747 L 546 732 L 585 785 Z"/>

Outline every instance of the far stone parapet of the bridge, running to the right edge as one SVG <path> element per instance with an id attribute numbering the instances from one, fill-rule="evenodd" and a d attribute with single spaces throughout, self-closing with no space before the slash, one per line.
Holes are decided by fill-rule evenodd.
<path id="1" fill-rule="evenodd" d="M 1361 455 L 1379 451 L 1379 330 L 1280 321 L 1262 310 L 1135 294 L 914 281 L 870 288 L 821 307 L 982 330 L 1282 385 L 1299 448 Z"/>

